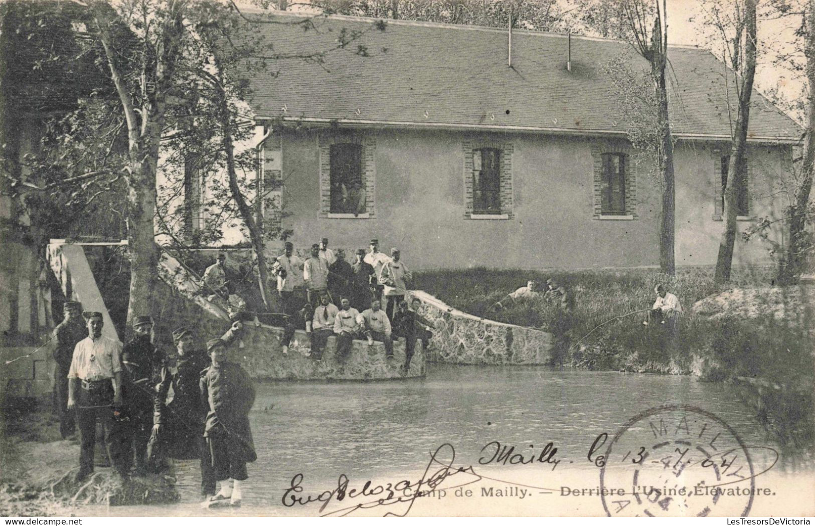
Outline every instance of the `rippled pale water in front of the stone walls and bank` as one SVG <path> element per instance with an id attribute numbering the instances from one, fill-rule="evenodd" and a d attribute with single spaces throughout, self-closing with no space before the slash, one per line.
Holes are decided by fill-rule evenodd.
<path id="1" fill-rule="evenodd" d="M 425 379 L 265 383 L 257 388 L 251 423 L 258 461 L 249 464 L 243 506 L 235 511 L 248 515 L 318 515 L 319 505 L 281 502 L 297 474 L 303 476 L 301 495 L 336 489 L 341 474 L 352 481 L 351 487 L 407 475 L 416 480 L 430 452 L 445 443 L 455 448 L 456 466 L 478 466 L 482 448 L 491 441 L 535 453 L 552 442 L 558 449 L 555 458 L 562 461 L 555 472 L 568 466 L 586 484 L 597 484 L 597 467 L 587 460 L 595 438 L 603 432 L 614 436 L 636 414 L 666 404 L 697 406 L 729 423 L 745 444 L 774 447 L 732 386 L 689 376 L 431 365 Z M 802 458 L 808 454 L 801 453 Z M 753 457 L 757 471 L 775 459 L 769 449 L 757 449 Z M 782 458 L 773 471 L 800 460 Z M 196 462 L 176 462 L 174 467 L 182 502 L 115 513 L 200 514 Z M 519 475 L 532 469 L 502 466 L 501 480 L 513 476 L 512 468 Z M 553 472 L 545 464 L 535 469 Z"/>

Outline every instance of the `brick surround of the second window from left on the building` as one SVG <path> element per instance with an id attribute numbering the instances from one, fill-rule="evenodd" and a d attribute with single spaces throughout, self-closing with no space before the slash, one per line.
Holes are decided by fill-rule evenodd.
<path id="1" fill-rule="evenodd" d="M 461 148 L 464 153 L 465 219 L 513 219 L 515 217 L 513 212 L 513 143 L 492 140 L 474 140 L 462 142 Z M 474 208 L 473 172 L 475 164 L 473 156 L 480 155 L 482 148 L 491 148 L 500 151 L 500 213 L 477 213 Z"/>

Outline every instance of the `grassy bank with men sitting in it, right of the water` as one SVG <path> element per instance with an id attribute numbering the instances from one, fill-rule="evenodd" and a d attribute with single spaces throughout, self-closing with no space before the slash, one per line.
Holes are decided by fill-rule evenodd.
<path id="1" fill-rule="evenodd" d="M 584 370 L 697 375 L 737 384 L 769 432 L 782 444 L 812 445 L 815 287 L 775 287 L 772 268 L 734 269 L 716 284 L 710 268 L 676 276 L 656 270 L 438 270 L 418 272 L 413 287 L 456 309 L 500 322 L 552 332 L 551 365 Z M 553 278 L 574 296 L 564 313 L 544 299 L 496 301 L 526 285 Z M 678 296 L 675 332 L 644 326 L 663 283 Z"/>

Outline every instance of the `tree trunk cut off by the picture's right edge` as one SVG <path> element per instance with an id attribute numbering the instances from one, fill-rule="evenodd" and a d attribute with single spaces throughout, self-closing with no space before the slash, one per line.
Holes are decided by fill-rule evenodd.
<path id="1" fill-rule="evenodd" d="M 780 276 L 782 283 L 789 283 L 804 272 L 808 252 L 812 248 L 806 226 L 809 195 L 813 189 L 813 161 L 815 161 L 815 137 L 813 137 L 815 134 L 815 0 L 809 0 L 808 7 L 804 55 L 807 58 L 809 101 L 807 127 L 804 130 L 804 160 L 801 164 L 801 180 L 795 188 L 794 202 L 790 208 L 790 242 L 786 248 L 786 264 Z"/>

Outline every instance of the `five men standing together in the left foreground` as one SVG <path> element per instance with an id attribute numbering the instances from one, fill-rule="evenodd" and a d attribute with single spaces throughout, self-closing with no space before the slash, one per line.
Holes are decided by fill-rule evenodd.
<path id="1" fill-rule="evenodd" d="M 163 458 L 199 458 L 201 493 L 239 504 L 245 463 L 256 459 L 248 419 L 254 389 L 226 352 L 242 324 L 234 322 L 221 338 L 209 340 L 206 352 L 192 331 L 178 327 L 174 352 L 165 353 L 153 343 L 150 316 L 133 319 L 134 336 L 122 345 L 102 334 L 101 313 L 82 313 L 79 302 L 67 301 L 64 314 L 54 331 L 55 412 L 64 438 L 78 427 L 76 480 L 94 471 L 99 421 L 122 480 L 131 471 L 156 471 Z"/>

